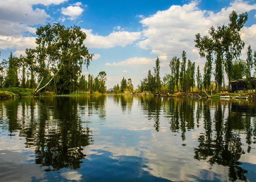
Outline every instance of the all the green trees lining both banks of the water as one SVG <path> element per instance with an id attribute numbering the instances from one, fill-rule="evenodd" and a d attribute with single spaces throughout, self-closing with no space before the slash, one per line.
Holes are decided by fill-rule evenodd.
<path id="1" fill-rule="evenodd" d="M 160 77 L 160 60 L 157 57 L 153 71 L 140 81 L 134 90 L 132 80 L 124 77 L 114 86 L 115 93 L 150 92 L 189 92 L 202 90 L 228 91 L 231 80 L 247 78 L 248 84 L 253 68 L 256 69 L 256 51 L 247 47 L 247 58 L 240 59 L 245 46 L 240 30 L 248 20 L 247 13 L 229 15 L 229 24 L 211 27 L 209 35 L 195 35 L 195 47 L 206 63 L 201 74 L 200 67 L 187 59 L 185 51 L 181 59 L 177 56 L 169 62 L 170 71 Z M 83 44 L 86 34 L 80 27 L 64 27 L 59 23 L 47 24 L 36 31 L 35 49 L 26 49 L 26 55 L 15 57 L 10 54 L 8 60 L 0 63 L 0 88 L 33 88 L 35 95 L 39 91 L 53 91 L 56 94 L 72 92 L 106 92 L 106 72 L 101 71 L 94 78 L 82 75 L 82 66 L 88 68 L 93 54 Z M 18 75 L 21 75 L 19 78 Z M 225 83 L 225 76 L 228 83 Z M 256 75 L 254 75 L 256 76 Z M 212 80 L 214 77 L 214 80 Z"/>

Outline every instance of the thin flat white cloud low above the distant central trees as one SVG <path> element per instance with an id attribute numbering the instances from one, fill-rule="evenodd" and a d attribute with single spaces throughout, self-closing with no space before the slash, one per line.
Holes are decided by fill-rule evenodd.
<path id="1" fill-rule="evenodd" d="M 140 66 L 140 65 L 148 65 L 154 64 L 155 61 L 149 58 L 129 58 L 125 61 L 118 62 L 118 63 L 106 63 L 106 66 Z"/>

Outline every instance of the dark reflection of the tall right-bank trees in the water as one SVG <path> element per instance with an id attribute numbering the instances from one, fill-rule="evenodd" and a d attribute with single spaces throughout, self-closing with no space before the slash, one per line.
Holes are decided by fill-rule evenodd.
<path id="1" fill-rule="evenodd" d="M 236 181 L 237 179 L 246 181 L 245 174 L 246 170 L 242 169 L 239 162 L 241 155 L 244 154 L 242 149 L 242 142 L 239 132 L 236 130 L 246 130 L 247 137 L 246 143 L 250 145 L 252 130 L 251 128 L 251 115 L 248 113 L 246 116 L 241 115 L 240 112 L 244 112 L 240 109 L 234 109 L 239 106 L 240 108 L 247 107 L 247 105 L 242 105 L 237 102 L 227 103 L 227 119 L 225 118 L 225 104 L 221 102 L 215 102 L 215 113 L 214 119 L 211 119 L 210 113 L 210 102 L 205 102 L 204 104 L 204 129 L 205 134 L 200 135 L 198 138 L 198 148 L 195 150 L 195 159 L 198 160 L 208 160 L 208 162 L 213 165 L 217 163 L 218 165 L 229 167 L 229 179 L 231 181 Z M 255 114 L 253 108 L 250 112 Z M 215 124 L 215 136 L 212 136 L 212 124 Z M 245 124 L 245 125 L 244 125 Z M 250 138 L 250 139 L 249 139 Z"/>

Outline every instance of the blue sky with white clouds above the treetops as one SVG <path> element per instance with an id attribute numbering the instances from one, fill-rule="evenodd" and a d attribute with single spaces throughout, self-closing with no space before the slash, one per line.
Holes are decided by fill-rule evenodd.
<path id="1" fill-rule="evenodd" d="M 245 59 L 248 45 L 256 50 L 256 0 L 0 0 L 0 60 L 8 59 L 10 52 L 19 56 L 35 48 L 38 27 L 77 25 L 94 54 L 82 74 L 96 77 L 105 71 L 107 88 L 120 85 L 123 77 L 136 87 L 153 70 L 157 56 L 163 77 L 170 73 L 170 59 L 181 58 L 183 50 L 203 72 L 205 59 L 195 48 L 195 35 L 227 25 L 233 10 L 248 12 L 241 29 Z"/>

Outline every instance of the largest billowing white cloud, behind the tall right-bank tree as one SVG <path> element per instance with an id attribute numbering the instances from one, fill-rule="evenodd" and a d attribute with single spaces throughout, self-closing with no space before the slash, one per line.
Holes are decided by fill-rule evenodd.
<path id="1" fill-rule="evenodd" d="M 230 3 L 229 7 L 222 8 L 219 12 L 201 10 L 198 3 L 199 1 L 192 1 L 182 6 L 172 5 L 169 9 L 158 11 L 152 16 L 141 16 L 140 23 L 144 27 L 142 35 L 145 39 L 137 45 L 143 50 L 151 50 L 152 55 L 158 55 L 163 60 L 181 56 L 182 50 L 185 50 L 189 59 L 200 62 L 198 51 L 195 51 L 196 33 L 208 35 L 212 25 L 217 27 L 229 23 L 229 14 L 233 10 L 241 13 L 256 9 L 256 4 L 248 4 L 242 0 Z M 253 30 L 254 28 L 246 29 Z M 251 33 L 246 35 L 252 38 L 255 33 Z"/>

